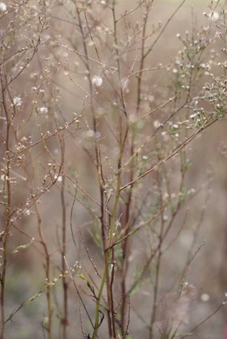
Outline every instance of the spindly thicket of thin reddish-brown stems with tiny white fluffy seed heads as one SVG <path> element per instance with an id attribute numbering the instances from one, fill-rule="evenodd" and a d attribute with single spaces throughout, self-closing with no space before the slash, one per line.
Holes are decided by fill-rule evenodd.
<path id="1" fill-rule="evenodd" d="M 71 298 L 84 338 L 134 338 L 137 317 L 147 338 L 188 335 L 196 289 L 186 278 L 203 245 L 196 247 L 196 236 L 205 209 L 173 287 L 163 262 L 201 189 L 186 185 L 188 145 L 226 119 L 227 64 L 220 1 L 209 5 L 204 27 L 193 21 L 174 37 L 182 47 L 173 60 L 163 65 L 153 57 L 185 3 L 164 24 L 155 23 L 156 0 L 135 1 L 122 13 L 115 0 L 0 3 L 0 338 L 15 313 L 42 294 L 49 339 L 80 338 L 71 332 Z M 74 101 L 64 102 L 64 94 Z M 45 197 L 61 212 L 60 228 L 48 229 L 39 208 Z M 78 224 L 80 210 L 86 217 Z M 23 227 L 29 216 L 35 231 Z M 18 233 L 25 243 L 17 243 Z M 46 282 L 8 315 L 8 266 L 31 249 L 43 258 Z M 136 304 L 142 291 L 144 306 Z"/>

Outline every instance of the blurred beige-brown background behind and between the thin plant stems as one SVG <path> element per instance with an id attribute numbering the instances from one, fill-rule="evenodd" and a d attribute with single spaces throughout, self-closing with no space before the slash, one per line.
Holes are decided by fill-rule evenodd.
<path id="1" fill-rule="evenodd" d="M 106 10 L 106 1 L 99 2 L 100 4 L 96 8 L 97 22 L 92 27 L 97 29 L 97 31 L 99 29 L 102 30 L 105 25 L 106 27 L 111 25 L 109 23 L 111 22 L 111 10 Z M 180 3 L 181 1 L 179 0 L 154 1 L 149 16 L 147 34 L 154 27 L 165 24 Z M 14 1 L 9 1 L 7 5 L 14 6 L 14 4 Z M 134 0 L 118 0 L 116 16 L 120 17 L 126 10 L 136 8 L 137 4 L 138 1 Z M 221 10 L 221 3 L 219 5 L 216 9 L 217 13 Z M 222 2 L 222 6 L 226 6 L 224 2 Z M 27 10 L 27 13 L 29 13 L 31 8 L 34 8 L 34 11 L 36 10 L 36 1 L 29 1 L 29 9 L 25 6 L 24 11 L 26 12 Z M 39 139 L 40 133 L 44 129 L 46 131 L 50 130 L 52 133 L 56 126 L 73 120 L 75 116 L 78 117 L 79 128 L 77 129 L 77 123 L 73 124 L 73 127 L 70 127 L 68 132 L 64 134 L 64 142 L 61 145 L 57 136 L 48 139 L 47 145 L 50 152 L 46 150 L 43 144 L 34 147 L 31 154 L 26 155 L 27 162 L 25 161 L 25 167 L 22 167 L 20 170 L 17 168 L 13 170 L 20 174 L 20 176 L 18 175 L 17 184 L 13 187 L 13 205 L 16 207 L 28 199 L 29 194 L 32 192 L 30 185 L 33 187 L 41 185 L 41 181 L 47 173 L 48 164 L 52 161 L 52 156 L 60 164 L 62 147 L 64 147 L 63 174 L 60 173 L 58 175 L 57 182 L 51 187 L 50 192 L 41 196 L 39 204 L 27 208 L 25 213 L 16 219 L 16 227 L 12 229 L 12 250 L 20 245 L 30 244 L 29 241 L 33 237 L 34 240 L 31 240 L 32 243 L 25 249 L 19 249 L 17 253 L 12 254 L 8 262 L 6 315 L 11 314 L 21 303 L 34 296 L 38 291 L 43 291 L 43 286 L 45 286 L 46 261 L 45 251 L 40 243 L 40 225 L 43 236 L 48 244 L 50 263 L 52 265 L 50 275 L 52 278 L 58 277 L 61 272 L 61 227 L 62 220 L 64 220 L 62 213 L 64 212 L 66 213 L 65 223 L 67 225 L 67 264 L 69 267 L 72 267 L 78 262 L 82 266 L 82 271 L 84 268 L 85 271 L 83 273 L 85 275 L 90 273 L 95 282 L 99 281 L 95 273 L 91 273 L 94 271 L 90 261 L 90 258 L 92 258 L 97 268 L 102 267 L 102 252 L 97 245 L 98 239 L 97 243 L 95 243 L 95 236 L 92 236 L 92 233 L 94 234 L 92 229 L 98 227 L 98 225 L 95 225 L 95 218 L 93 219 L 92 215 L 93 210 L 97 208 L 99 191 L 97 188 L 95 166 L 92 164 L 89 152 L 85 151 L 85 148 L 86 150 L 91 150 L 93 138 L 90 106 L 86 101 L 86 91 L 89 89 L 88 85 L 86 85 L 88 83 L 87 74 L 85 73 L 85 66 L 78 55 L 62 47 L 62 45 L 68 45 L 69 48 L 74 49 L 70 43 L 76 46 L 81 44 L 81 37 L 78 36 L 78 20 L 74 10 L 73 1 L 53 1 L 53 3 L 50 1 L 47 6 L 48 17 L 50 17 L 48 21 L 49 27 L 42 35 L 42 41 L 45 41 L 45 44 L 43 43 L 40 46 L 38 57 L 32 60 L 29 70 L 25 70 L 22 73 L 13 83 L 11 89 L 14 97 L 22 97 L 22 106 L 17 108 L 20 113 L 20 118 L 18 119 L 20 131 L 15 140 L 17 138 L 20 140 L 24 133 L 26 136 L 32 135 L 32 139 L 35 141 Z M 156 44 L 156 48 L 146 60 L 146 66 L 155 67 L 158 64 L 162 64 L 168 68 L 168 65 L 174 64 L 178 51 L 182 48 L 182 42 L 177 38 L 177 35 L 186 36 L 186 31 L 191 34 L 195 27 L 199 28 L 202 25 L 206 26 L 209 24 L 210 20 L 207 20 L 203 13 L 210 13 L 207 1 L 186 1 L 163 32 L 162 37 Z M 15 17 L 17 17 L 16 14 Z M 129 27 L 131 28 L 130 25 L 135 24 L 137 21 L 140 22 L 141 17 L 142 13 L 140 10 L 135 10 L 128 17 Z M 1 30 L 4 29 L 7 20 L 8 17 L 1 17 Z M 21 22 L 23 21 L 21 20 Z M 85 25 L 85 22 L 83 24 Z M 215 30 L 215 22 L 213 24 Z M 20 22 L 18 25 L 18 27 L 22 27 Z M 124 22 L 121 24 L 121 29 L 124 39 L 126 31 Z M 31 31 L 31 36 L 32 34 L 33 32 Z M 154 36 L 156 37 L 157 34 Z M 19 39 L 16 35 L 15 38 Z M 25 42 L 26 34 L 20 36 L 20 38 Z M 21 41 L 16 39 L 16 43 L 20 45 Z M 102 51 L 104 41 L 100 40 L 98 46 L 99 50 Z M 96 57 L 95 51 L 92 48 L 93 46 L 91 45 L 90 56 Z M 111 48 L 105 52 L 100 52 L 100 55 L 105 58 L 109 55 L 109 59 L 105 59 L 105 62 L 106 64 L 113 64 Z M 219 43 L 214 44 L 214 47 L 208 48 L 205 53 L 207 53 L 205 59 L 209 59 L 210 55 L 215 53 L 220 55 Z M 134 57 L 135 52 L 133 50 L 125 57 L 125 70 L 128 67 L 127 63 L 132 64 Z M 220 58 L 222 58 L 221 55 Z M 20 66 L 20 61 L 18 61 L 18 65 Z M 102 74 L 102 66 L 99 64 L 92 64 L 92 66 L 94 67 L 92 73 L 95 75 Z M 51 78 L 48 78 L 48 75 L 46 76 L 49 72 L 51 73 Z M 108 76 L 106 75 L 107 78 Z M 151 92 L 149 99 L 151 108 L 153 105 L 160 105 L 164 99 L 170 97 L 172 76 L 172 66 L 167 71 L 166 68 L 162 70 L 160 66 L 160 69 L 153 71 L 152 75 L 151 73 L 147 76 L 144 75 L 143 80 L 146 84 L 144 86 L 149 88 Z M 130 93 L 127 97 L 128 107 L 131 105 L 132 110 L 135 109 L 134 104 L 131 103 L 131 99 L 135 95 L 134 85 L 134 82 L 132 82 L 132 85 L 129 85 Z M 199 82 L 198 88 L 200 88 Z M 104 87 L 100 90 L 97 88 L 97 93 L 95 94 L 97 106 L 95 109 L 100 117 L 104 115 L 105 110 L 109 110 L 110 102 L 111 104 L 114 102 L 114 90 L 113 93 L 111 90 L 111 85 L 107 81 L 104 82 Z M 43 91 L 43 94 L 41 91 Z M 194 91 L 196 92 L 196 88 L 194 88 Z M 32 112 L 32 105 L 36 106 L 33 111 L 36 111 L 34 119 L 29 118 Z M 43 113 L 41 108 L 48 108 L 48 115 L 45 113 L 39 114 Z M 146 110 L 145 103 L 142 109 Z M 1 108 L 1 115 L 2 112 Z M 144 127 L 146 134 L 149 136 L 149 134 L 153 133 L 153 122 L 155 119 L 160 120 L 160 117 L 167 115 L 168 108 L 167 110 L 163 109 L 161 114 L 148 120 L 147 125 Z M 59 120 L 57 120 L 58 118 Z M 24 120 L 26 121 L 25 125 L 23 125 Z M 103 140 L 102 154 L 106 154 L 106 157 L 108 156 L 111 162 L 116 159 L 116 143 L 112 143 L 111 138 L 109 138 L 109 132 L 107 133 L 106 131 L 106 122 L 103 122 L 102 119 L 100 121 L 100 136 L 98 137 Z M 4 122 L 2 120 L 0 124 L 1 129 L 4 129 Z M 184 185 L 188 191 L 191 190 L 193 197 L 188 200 L 186 206 L 179 211 L 176 219 L 174 219 L 173 231 L 172 233 L 170 232 L 168 238 L 170 242 L 174 241 L 174 245 L 170 247 L 167 254 L 163 254 L 162 271 L 160 273 L 160 296 L 162 295 L 163 297 L 160 298 L 160 310 L 158 310 L 160 315 L 157 316 L 157 322 L 163 318 L 163 312 L 168 312 L 168 304 L 170 304 L 170 312 L 171 307 L 174 308 L 172 300 L 174 300 L 174 293 L 177 292 L 175 284 L 179 281 L 179 277 L 181 277 L 186 268 L 186 282 L 190 288 L 186 290 L 186 301 L 182 301 L 182 305 L 179 305 L 181 312 L 187 313 L 187 322 L 184 324 L 184 331 L 186 333 L 202 322 L 202 319 L 211 315 L 221 305 L 227 292 L 226 127 L 227 123 L 225 120 L 216 122 L 198 136 L 198 138 L 193 140 L 187 148 L 187 157 L 191 160 L 191 167 L 186 173 Z M 144 150 L 144 154 L 146 152 L 149 153 L 149 146 L 147 147 Z M 92 150 L 90 152 L 92 154 Z M 4 163 L 3 144 L 1 145 L 1 157 L 1 162 Z M 108 162 L 107 159 L 106 161 Z M 106 173 L 109 174 L 112 169 L 107 162 L 105 168 Z M 177 191 L 181 179 L 179 159 L 177 157 L 176 159 L 170 159 L 167 169 L 170 171 L 169 179 L 172 192 Z M 128 180 L 125 182 L 128 182 Z M 83 194 L 82 190 L 76 190 L 77 184 L 92 196 L 92 200 L 90 200 L 88 194 Z M 145 181 L 145 185 L 140 191 L 141 195 L 137 197 L 138 201 L 145 199 L 150 186 L 155 186 L 156 184 L 157 178 L 156 173 L 154 173 Z M 64 188 L 63 190 L 62 187 Z M 76 203 L 74 204 L 75 194 L 77 195 Z M 62 210 L 62 199 L 65 206 L 64 211 Z M 149 198 L 145 200 L 145 207 L 147 205 L 148 208 L 151 208 L 154 201 L 152 199 L 155 198 L 149 195 Z M 181 229 L 182 224 L 184 224 L 186 210 L 188 210 L 188 217 L 185 226 Z M 121 208 L 119 215 L 121 215 Z M 1 220 L 4 224 L 3 210 Z M 75 248 L 72 241 L 71 227 L 78 248 Z M 179 229 L 181 231 L 178 233 L 177 230 Z M 194 239 L 195 233 L 196 239 Z M 176 234 L 177 238 L 175 239 Z M 144 262 L 148 256 L 148 250 L 144 245 L 146 243 L 146 236 L 146 231 L 143 231 L 133 243 L 132 251 L 130 252 L 132 268 L 130 268 L 129 279 L 133 277 L 135 266 L 137 265 L 138 267 L 139 263 Z M 191 244 L 193 244 L 193 247 L 191 247 Z M 187 267 L 188 254 L 191 254 L 189 257 L 193 258 L 189 267 Z M 146 274 L 146 280 L 140 287 L 140 290 L 132 296 L 131 322 L 129 326 L 130 336 L 128 338 L 136 339 L 139 336 L 149 338 L 146 329 L 146 320 L 150 318 L 152 301 L 151 289 L 149 288 L 149 273 Z M 57 281 L 55 287 L 53 287 L 52 298 L 55 305 L 53 338 L 63 338 L 60 335 L 60 320 L 58 319 L 62 312 L 63 303 L 61 284 L 61 280 Z M 130 286 L 130 281 L 128 281 L 128 286 Z M 78 287 L 81 294 L 85 290 L 83 298 L 93 317 L 95 303 L 89 298 L 88 290 L 82 280 L 78 280 Z M 117 290 L 118 287 L 116 287 Z M 86 333 L 91 332 L 90 324 L 85 317 L 82 306 L 78 306 L 80 304 L 78 295 L 71 281 L 69 281 L 69 295 L 68 338 L 83 338 L 80 314 L 82 319 L 84 319 L 83 326 Z M 165 305 L 163 302 L 164 296 Z M 161 308 L 165 308 L 165 310 L 163 311 Z M 191 335 L 191 338 L 223 338 L 227 323 L 226 312 L 226 307 L 223 306 L 219 312 L 216 312 L 205 324 L 200 326 Z M 13 316 L 12 321 L 6 324 L 6 338 L 47 338 L 44 329 L 46 322 L 48 322 L 46 295 L 42 292 L 41 296 L 35 298 L 33 302 L 28 302 L 27 305 L 24 305 Z M 101 329 L 99 338 L 107 338 L 105 329 Z M 156 338 L 160 338 L 158 332 L 156 333 Z"/>

